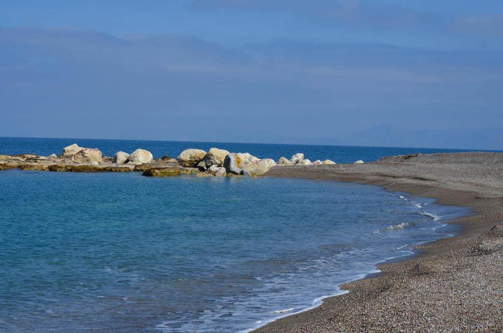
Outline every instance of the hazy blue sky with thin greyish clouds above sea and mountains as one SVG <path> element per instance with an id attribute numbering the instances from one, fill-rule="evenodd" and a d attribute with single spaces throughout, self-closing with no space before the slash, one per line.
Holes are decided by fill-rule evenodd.
<path id="1" fill-rule="evenodd" d="M 502 1 L 0 2 L 0 136 L 501 128 L 502 74 Z"/>

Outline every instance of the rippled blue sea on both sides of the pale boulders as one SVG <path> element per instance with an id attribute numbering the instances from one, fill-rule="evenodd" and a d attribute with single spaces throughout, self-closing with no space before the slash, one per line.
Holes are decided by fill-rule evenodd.
<path id="1" fill-rule="evenodd" d="M 0 138 L 0 154 L 176 157 L 218 147 L 338 163 L 453 149 Z M 247 332 L 450 237 L 465 207 L 381 187 L 277 178 L 0 171 L 0 331 Z"/>

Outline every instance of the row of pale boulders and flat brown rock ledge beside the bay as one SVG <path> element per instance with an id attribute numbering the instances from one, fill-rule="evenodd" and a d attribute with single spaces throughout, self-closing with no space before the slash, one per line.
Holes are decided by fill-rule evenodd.
<path id="1" fill-rule="evenodd" d="M 363 163 L 359 160 L 355 163 Z M 104 156 L 98 148 L 80 147 L 76 143 L 63 148 L 61 155 L 37 156 L 34 154 L 0 155 L 0 170 L 21 169 L 54 172 L 142 172 L 144 176 L 166 177 L 191 175 L 197 177 L 262 176 L 273 166 L 336 164 L 329 159 L 311 162 L 303 153 L 296 153 L 290 159 L 281 157 L 258 158 L 250 153 L 229 152 L 211 148 L 186 149 L 178 158 L 163 156 L 153 158 L 145 149 L 131 153 L 118 151 L 113 157 Z"/>

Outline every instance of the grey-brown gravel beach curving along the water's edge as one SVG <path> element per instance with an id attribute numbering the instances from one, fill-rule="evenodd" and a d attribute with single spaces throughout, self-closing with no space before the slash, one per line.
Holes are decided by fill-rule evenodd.
<path id="1" fill-rule="evenodd" d="M 461 235 L 341 286 L 312 310 L 257 332 L 503 331 L 503 153 L 385 157 L 364 164 L 274 166 L 266 176 L 359 182 L 468 206 Z M 319 295 L 313 295 L 318 297 Z"/>

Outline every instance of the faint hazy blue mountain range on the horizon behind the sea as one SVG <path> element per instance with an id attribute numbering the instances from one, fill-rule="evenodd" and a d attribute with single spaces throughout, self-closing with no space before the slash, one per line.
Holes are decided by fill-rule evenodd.
<path id="1" fill-rule="evenodd" d="M 503 150 L 503 129 L 425 129 L 379 125 L 326 137 L 283 136 L 270 132 L 235 138 L 239 142 Z M 227 139 L 228 140 L 228 139 Z M 237 141 L 236 141 L 237 142 Z"/>

